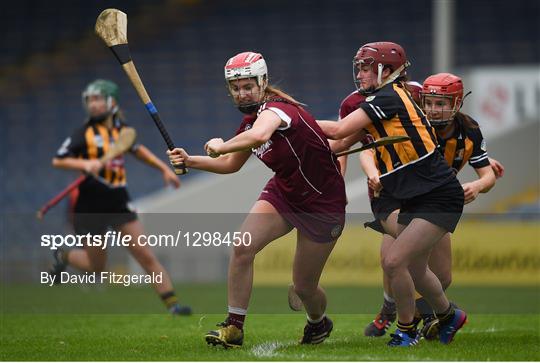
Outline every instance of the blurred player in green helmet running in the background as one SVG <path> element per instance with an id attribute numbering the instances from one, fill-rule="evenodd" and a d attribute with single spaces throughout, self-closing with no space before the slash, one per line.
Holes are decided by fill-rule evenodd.
<path id="1" fill-rule="evenodd" d="M 118 86 L 108 80 L 90 83 L 82 94 L 88 120 L 67 138 L 56 156 L 53 166 L 87 173 L 89 177 L 79 186 L 73 204 L 75 233 L 104 234 L 108 228 L 131 235 L 132 241 L 143 234 L 137 214 L 129 206 L 123 155 L 103 165 L 100 157 L 118 139 L 120 130 L 127 127 L 118 106 Z M 158 169 L 166 184 L 178 188 L 180 181 L 165 163 L 143 145 L 134 145 L 131 153 L 139 160 Z M 72 194 L 72 200 L 73 194 Z M 180 305 L 167 271 L 149 246 L 137 243 L 127 247 L 147 273 L 162 275 L 162 282 L 154 288 L 167 309 L 174 315 L 189 315 L 191 308 Z M 72 266 L 81 271 L 101 272 L 105 268 L 107 252 L 101 246 L 81 249 L 58 249 L 54 253 L 51 275 L 59 281 L 60 273 Z"/>

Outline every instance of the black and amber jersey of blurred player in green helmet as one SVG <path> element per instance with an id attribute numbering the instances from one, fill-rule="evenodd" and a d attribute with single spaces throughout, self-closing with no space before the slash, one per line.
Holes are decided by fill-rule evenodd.
<path id="1" fill-rule="evenodd" d="M 124 126 L 126 124 L 118 118 L 113 120 L 111 129 L 101 122 L 88 121 L 64 141 L 56 152 L 56 157 L 99 159 L 118 140 L 120 130 Z M 131 150 L 136 148 L 137 145 L 134 144 Z M 127 181 L 124 156 L 120 155 L 109 161 L 95 179 L 109 188 L 125 187 Z"/>

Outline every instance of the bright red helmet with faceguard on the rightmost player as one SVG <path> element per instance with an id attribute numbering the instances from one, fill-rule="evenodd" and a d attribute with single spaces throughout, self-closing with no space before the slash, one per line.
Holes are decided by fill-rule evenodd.
<path id="1" fill-rule="evenodd" d="M 445 127 L 452 122 L 463 105 L 463 82 L 461 78 L 451 73 L 438 73 L 426 78 L 420 95 L 422 108 L 431 125 Z M 426 104 L 427 97 L 432 100 L 449 100 L 450 108 L 441 107 L 435 110 L 433 104 Z M 434 113 L 439 113 L 440 117 L 434 118 Z M 445 115 L 448 116 L 445 117 Z"/>

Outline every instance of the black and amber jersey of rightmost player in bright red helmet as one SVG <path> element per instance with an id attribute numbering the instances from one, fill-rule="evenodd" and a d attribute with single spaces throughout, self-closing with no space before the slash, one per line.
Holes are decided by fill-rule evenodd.
<path id="1" fill-rule="evenodd" d="M 459 114 L 458 114 L 459 115 Z M 471 119 L 472 123 L 478 123 Z M 461 117 L 455 117 L 454 132 L 447 139 L 437 135 L 439 140 L 439 151 L 444 159 L 457 173 L 467 162 L 475 169 L 489 166 L 489 158 L 486 149 L 486 142 L 479 127 L 470 128 L 463 124 Z"/>

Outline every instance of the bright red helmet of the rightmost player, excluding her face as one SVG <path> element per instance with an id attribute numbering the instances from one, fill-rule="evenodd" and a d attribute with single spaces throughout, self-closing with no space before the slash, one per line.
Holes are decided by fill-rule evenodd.
<path id="1" fill-rule="evenodd" d="M 450 98 L 452 104 L 451 117 L 443 120 L 430 120 L 434 126 L 447 125 L 459 111 L 463 103 L 463 82 L 451 73 L 438 73 L 429 76 L 422 86 L 422 108 L 425 108 L 426 96 Z"/>

